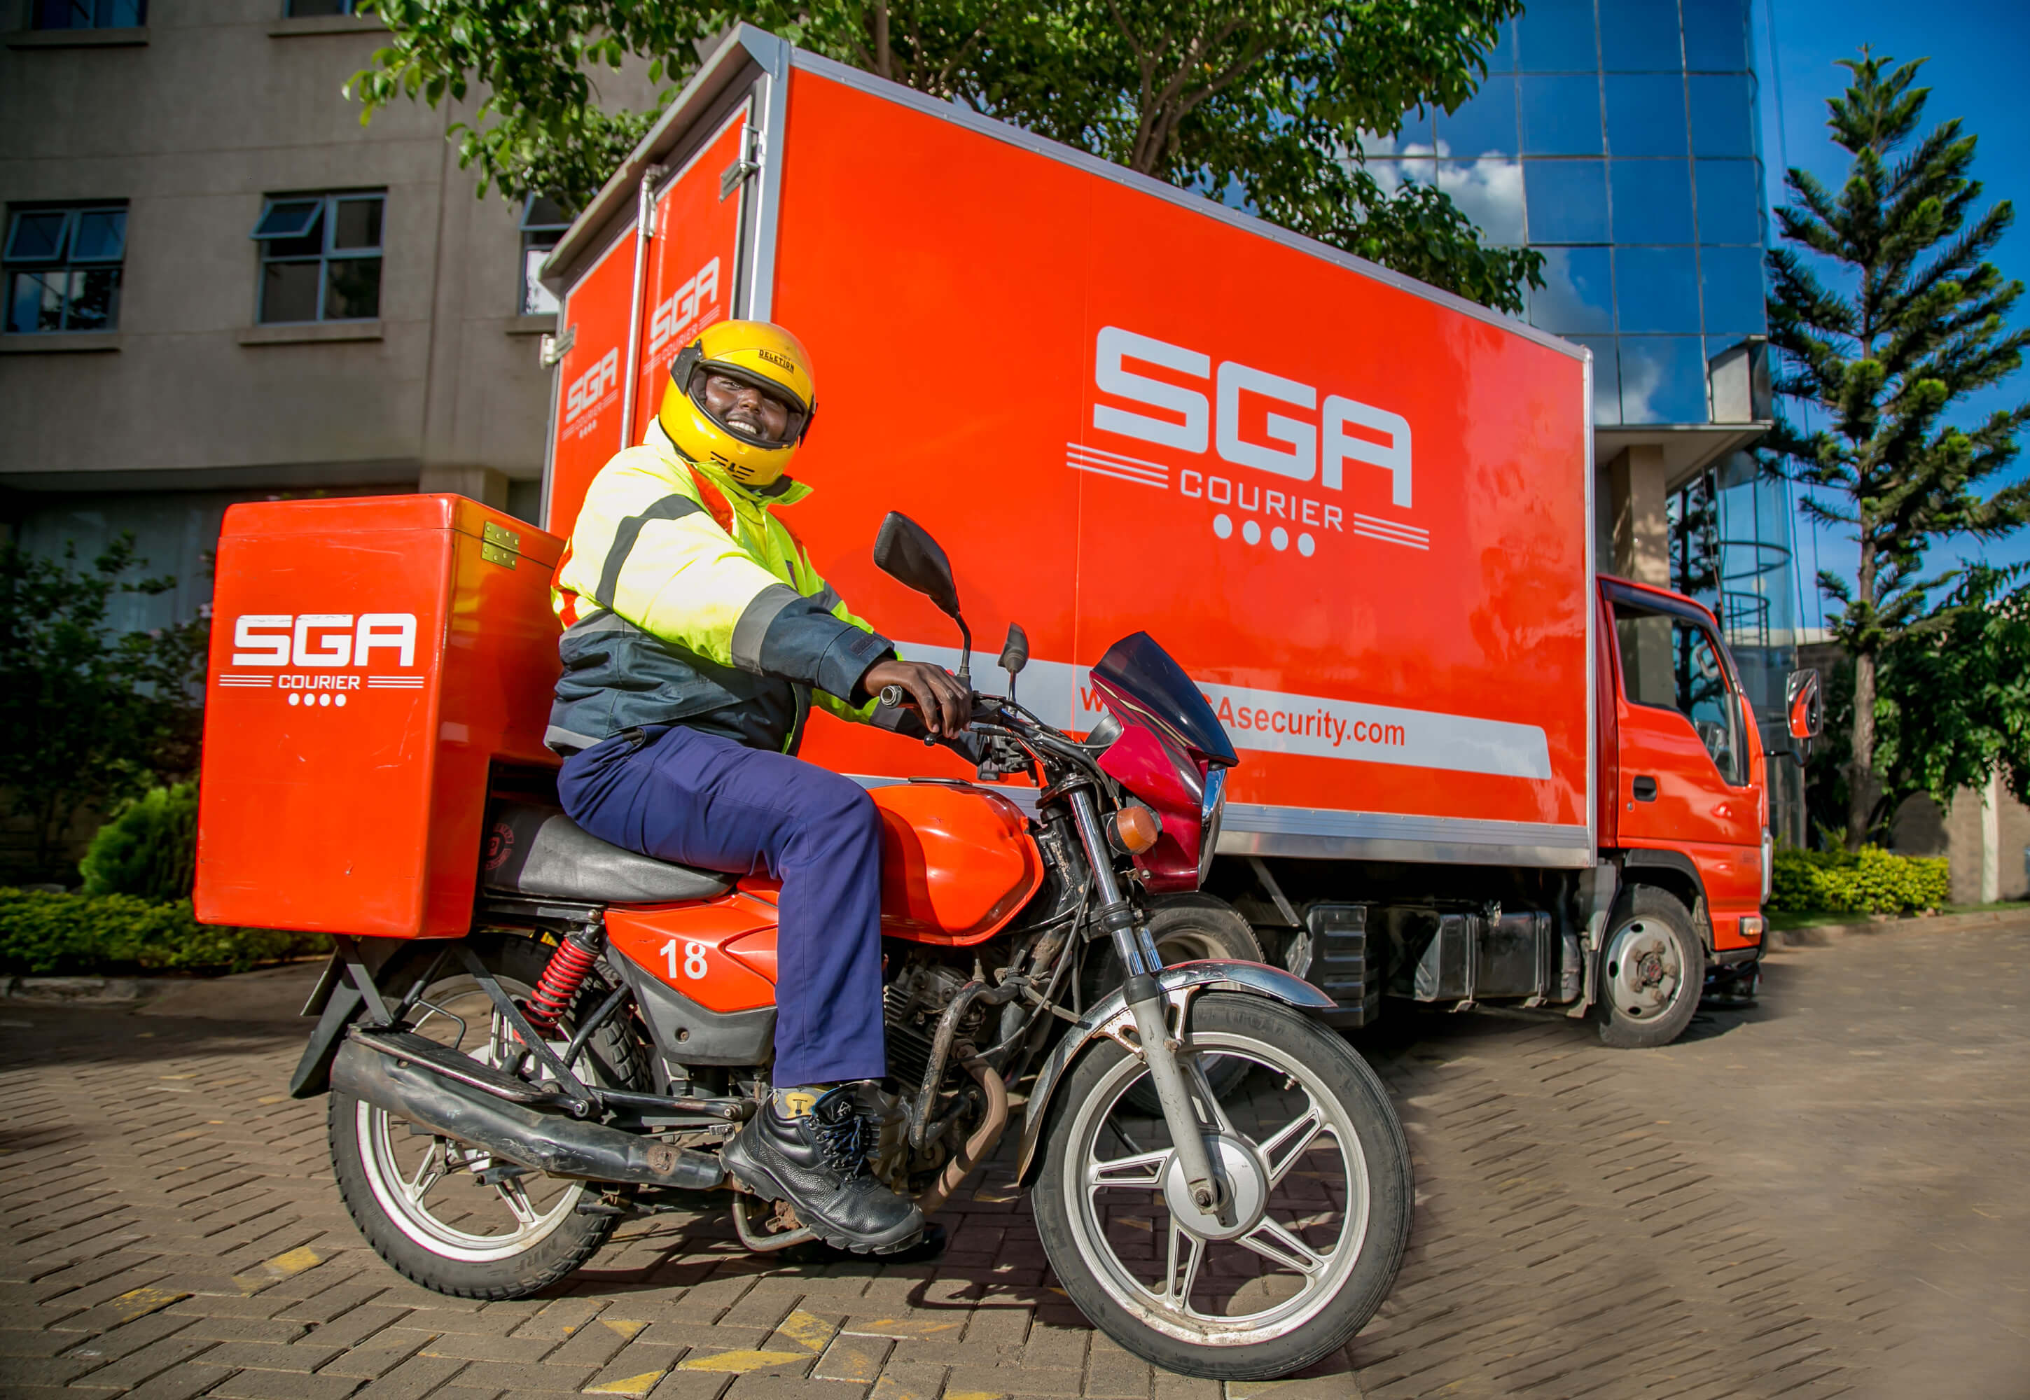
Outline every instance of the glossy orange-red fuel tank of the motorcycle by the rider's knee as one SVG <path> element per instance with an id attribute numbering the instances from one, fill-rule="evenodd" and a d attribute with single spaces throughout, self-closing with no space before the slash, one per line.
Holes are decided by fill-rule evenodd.
<path id="1" fill-rule="evenodd" d="M 954 781 L 873 789 L 881 812 L 881 931 L 918 943 L 980 943 L 1043 883 L 1021 808 Z"/>

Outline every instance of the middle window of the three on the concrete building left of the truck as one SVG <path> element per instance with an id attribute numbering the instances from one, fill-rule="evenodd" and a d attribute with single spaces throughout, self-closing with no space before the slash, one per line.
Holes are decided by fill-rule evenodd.
<path id="1" fill-rule="evenodd" d="M 270 195 L 260 243 L 260 321 L 371 321 L 380 314 L 380 191 Z"/>

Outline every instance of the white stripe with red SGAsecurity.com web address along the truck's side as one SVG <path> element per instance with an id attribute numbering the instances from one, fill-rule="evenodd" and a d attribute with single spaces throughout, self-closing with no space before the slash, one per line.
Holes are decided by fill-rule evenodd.
<path id="1" fill-rule="evenodd" d="M 899 643 L 899 649 L 911 661 L 958 668 L 956 647 Z M 978 666 L 974 684 L 983 690 L 1001 690 L 1005 678 L 993 670 L 991 653 L 976 653 L 972 659 Z M 1092 672 L 1084 666 L 1029 661 L 1015 694 L 1047 722 L 1086 730 L 1100 716 L 1090 686 Z M 1234 749 L 1539 781 L 1551 777 L 1551 745 L 1537 724 L 1250 686 L 1200 682 L 1200 690 L 1226 726 Z"/>

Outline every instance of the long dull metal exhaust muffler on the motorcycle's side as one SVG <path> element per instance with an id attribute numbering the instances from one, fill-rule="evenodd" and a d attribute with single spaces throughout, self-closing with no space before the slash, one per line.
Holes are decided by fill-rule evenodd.
<path id="1" fill-rule="evenodd" d="M 725 1167 L 710 1152 L 674 1148 L 562 1114 L 540 1114 L 359 1041 L 339 1047 L 331 1061 L 331 1088 L 418 1128 L 552 1177 L 680 1191 L 713 1191 L 727 1179 Z"/>

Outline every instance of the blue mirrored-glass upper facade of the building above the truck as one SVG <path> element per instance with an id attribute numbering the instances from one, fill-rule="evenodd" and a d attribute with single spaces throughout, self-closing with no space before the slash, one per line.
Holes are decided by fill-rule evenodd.
<path id="1" fill-rule="evenodd" d="M 1602 426 L 1707 422 L 1705 361 L 1766 331 L 1748 0 L 1533 0 L 1466 106 L 1370 150 L 1545 254 L 1527 317 L 1594 349 Z"/>

